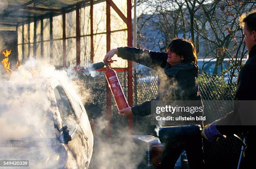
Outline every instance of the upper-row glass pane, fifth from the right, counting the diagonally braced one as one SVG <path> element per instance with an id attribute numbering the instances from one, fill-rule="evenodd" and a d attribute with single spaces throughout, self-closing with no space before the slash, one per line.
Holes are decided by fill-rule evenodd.
<path id="1" fill-rule="evenodd" d="M 62 15 L 53 17 L 52 22 L 53 28 L 53 39 L 61 39 L 62 38 Z"/>

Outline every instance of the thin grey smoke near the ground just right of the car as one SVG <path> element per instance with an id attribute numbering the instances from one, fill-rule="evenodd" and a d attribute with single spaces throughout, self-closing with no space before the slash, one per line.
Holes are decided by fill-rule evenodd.
<path id="1" fill-rule="evenodd" d="M 146 152 L 138 151 L 139 145 L 129 136 L 128 128 L 118 125 L 116 135 L 107 134 L 108 121 L 96 120 L 93 169 L 136 169 Z"/>

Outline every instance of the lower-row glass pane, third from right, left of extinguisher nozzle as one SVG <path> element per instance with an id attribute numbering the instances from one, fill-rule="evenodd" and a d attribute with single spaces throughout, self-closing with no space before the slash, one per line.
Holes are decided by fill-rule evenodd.
<path id="1" fill-rule="evenodd" d="M 91 65 L 91 37 L 85 36 L 81 37 L 81 53 L 80 53 L 80 62 L 81 66 L 88 67 Z"/>

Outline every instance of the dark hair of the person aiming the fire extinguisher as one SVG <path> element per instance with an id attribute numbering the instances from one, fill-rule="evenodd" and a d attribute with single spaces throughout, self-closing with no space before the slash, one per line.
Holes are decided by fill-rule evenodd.
<path id="1" fill-rule="evenodd" d="M 197 64 L 197 52 L 191 40 L 174 38 L 168 45 L 167 50 L 184 57 L 182 62 Z"/>

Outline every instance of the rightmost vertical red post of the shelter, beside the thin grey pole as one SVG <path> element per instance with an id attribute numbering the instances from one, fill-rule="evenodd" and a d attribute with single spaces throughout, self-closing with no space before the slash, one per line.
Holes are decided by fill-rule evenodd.
<path id="1" fill-rule="evenodd" d="M 131 0 L 127 0 L 127 28 L 128 46 L 132 47 L 132 19 L 131 19 Z M 128 104 L 133 106 L 133 62 L 128 61 Z M 129 132 L 133 131 L 133 116 L 128 117 Z"/>

